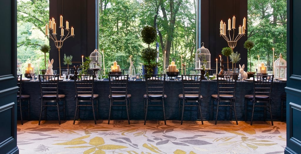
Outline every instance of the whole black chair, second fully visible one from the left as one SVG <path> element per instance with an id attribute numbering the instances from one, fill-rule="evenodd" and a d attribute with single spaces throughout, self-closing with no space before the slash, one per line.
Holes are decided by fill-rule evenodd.
<path id="1" fill-rule="evenodd" d="M 92 107 L 94 123 L 96 125 L 96 119 L 98 119 L 98 94 L 94 94 L 94 75 L 75 75 L 74 76 L 74 85 L 75 85 L 75 100 L 76 100 L 76 109 L 73 119 L 73 125 L 75 124 L 76 115 L 79 116 L 79 107 Z M 94 103 L 96 100 L 96 104 Z M 83 103 L 90 102 L 91 104 Z M 96 107 L 95 107 L 96 105 Z M 85 109 L 87 110 L 87 109 Z M 96 110 L 96 117 L 95 117 Z"/>

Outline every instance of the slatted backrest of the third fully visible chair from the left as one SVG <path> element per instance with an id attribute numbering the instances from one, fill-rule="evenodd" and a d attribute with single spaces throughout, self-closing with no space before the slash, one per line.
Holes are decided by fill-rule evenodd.
<path id="1" fill-rule="evenodd" d="M 122 95 L 120 99 L 126 98 L 128 95 L 129 74 L 113 75 L 109 74 L 110 96 L 113 94 Z"/>

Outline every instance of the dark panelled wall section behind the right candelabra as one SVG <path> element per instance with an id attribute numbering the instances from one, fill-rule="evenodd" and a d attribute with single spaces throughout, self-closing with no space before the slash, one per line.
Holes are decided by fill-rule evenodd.
<path id="1" fill-rule="evenodd" d="M 216 58 L 219 60 L 219 55 L 222 55 L 222 48 L 228 47 L 226 40 L 219 35 L 219 23 L 223 20 L 226 23 L 228 29 L 228 19 L 236 17 L 235 22 L 235 35 L 238 34 L 238 27 L 243 24 L 243 18 L 247 18 L 247 0 L 199 0 L 201 1 L 201 42 L 204 42 L 204 47 L 209 49 L 211 53 L 211 68 L 216 68 Z M 232 24 L 232 23 L 231 23 Z M 246 23 L 247 24 L 247 23 Z M 248 25 L 248 24 L 247 24 Z M 240 53 L 241 60 L 238 64 L 245 64 L 245 71 L 247 71 L 247 50 L 244 48 L 244 42 L 247 41 L 246 35 L 237 41 L 237 46 L 234 48 L 234 52 Z M 228 35 L 228 31 L 226 31 Z M 231 32 L 231 37 L 232 37 Z M 227 66 L 226 56 L 222 56 L 224 59 L 224 67 Z M 238 67 L 238 64 L 236 67 Z M 230 67 L 229 58 L 229 68 Z M 219 67 L 219 66 L 218 66 Z M 219 70 L 219 69 L 218 69 Z"/>

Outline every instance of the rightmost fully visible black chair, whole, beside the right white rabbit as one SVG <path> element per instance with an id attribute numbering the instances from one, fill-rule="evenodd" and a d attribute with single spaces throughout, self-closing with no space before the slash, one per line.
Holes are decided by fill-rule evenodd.
<path id="1" fill-rule="evenodd" d="M 254 107 L 264 107 L 264 121 L 266 119 L 265 111 L 268 111 L 271 116 L 273 124 L 272 109 L 271 109 L 271 92 L 273 85 L 274 75 L 253 75 L 253 94 L 245 95 L 245 121 L 247 121 L 247 102 L 252 102 L 252 117 L 251 123 L 253 124 Z M 261 105 L 256 105 L 261 104 Z"/>

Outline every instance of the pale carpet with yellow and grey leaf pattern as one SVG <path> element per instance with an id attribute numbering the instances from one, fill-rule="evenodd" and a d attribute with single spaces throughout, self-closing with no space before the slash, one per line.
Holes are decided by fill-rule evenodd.
<path id="1" fill-rule="evenodd" d="M 20 154 L 278 154 L 286 123 L 239 121 L 24 121 L 17 124 Z"/>

